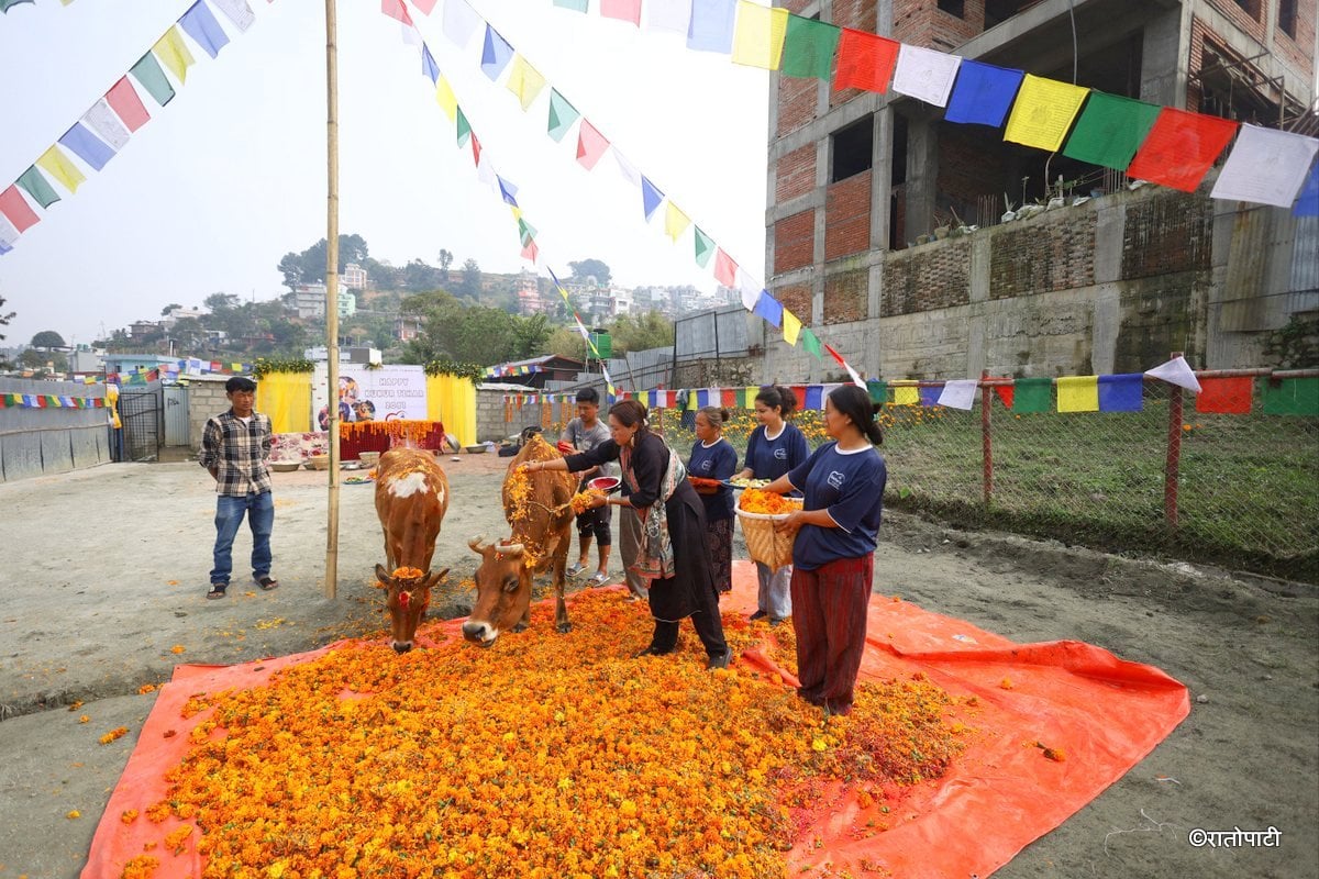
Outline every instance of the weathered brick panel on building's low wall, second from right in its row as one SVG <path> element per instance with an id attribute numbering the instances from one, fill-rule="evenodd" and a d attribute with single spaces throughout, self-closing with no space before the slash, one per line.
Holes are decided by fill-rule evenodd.
<path id="1" fill-rule="evenodd" d="M 1066 211 L 1066 221 L 1041 217 L 995 231 L 989 298 L 1088 287 L 1095 283 L 1093 211 Z"/>

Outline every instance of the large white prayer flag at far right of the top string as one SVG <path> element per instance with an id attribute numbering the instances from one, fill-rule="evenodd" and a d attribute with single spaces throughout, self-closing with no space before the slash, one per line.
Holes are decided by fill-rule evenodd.
<path id="1" fill-rule="evenodd" d="M 1319 140 L 1242 125 L 1210 198 L 1291 207 L 1319 152 Z"/>

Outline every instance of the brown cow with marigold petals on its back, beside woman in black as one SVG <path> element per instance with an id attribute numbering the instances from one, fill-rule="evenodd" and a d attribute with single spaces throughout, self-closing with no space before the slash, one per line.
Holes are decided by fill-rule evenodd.
<path id="1" fill-rule="evenodd" d="M 476 605 L 463 623 L 463 637 L 489 647 L 501 631 L 522 631 L 532 615 L 532 579 L 554 567 L 554 625 L 570 631 L 563 604 L 563 569 L 572 542 L 571 473 L 541 470 L 517 473 L 524 461 L 563 457 L 534 435 L 508 465 L 504 476 L 504 517 L 513 536 L 497 544 L 472 538 L 467 546 L 481 556 L 476 568 Z"/>

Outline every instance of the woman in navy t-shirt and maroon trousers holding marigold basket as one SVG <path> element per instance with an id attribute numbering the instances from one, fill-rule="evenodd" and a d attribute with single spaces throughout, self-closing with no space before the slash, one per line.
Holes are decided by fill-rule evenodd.
<path id="1" fill-rule="evenodd" d="M 874 542 L 884 513 L 888 470 L 876 445 L 878 406 L 856 385 L 824 402 L 824 430 L 836 441 L 768 488 L 805 490 L 801 513 L 774 525 L 797 531 L 793 543 L 793 629 L 798 696 L 826 714 L 848 714 L 865 650 L 865 615 L 874 572 Z"/>

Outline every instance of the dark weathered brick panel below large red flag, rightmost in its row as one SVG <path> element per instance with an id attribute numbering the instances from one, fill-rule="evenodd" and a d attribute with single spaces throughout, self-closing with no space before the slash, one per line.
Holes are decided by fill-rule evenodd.
<path id="1" fill-rule="evenodd" d="M 1129 204 L 1122 229 L 1122 278 L 1208 269 L 1212 203 L 1203 195 L 1158 190 Z"/>

